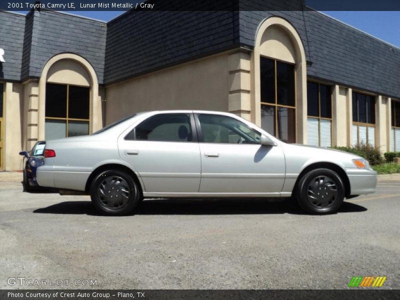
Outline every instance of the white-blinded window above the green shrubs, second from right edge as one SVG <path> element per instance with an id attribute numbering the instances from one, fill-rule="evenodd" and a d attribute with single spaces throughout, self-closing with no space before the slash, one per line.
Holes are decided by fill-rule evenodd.
<path id="1" fill-rule="evenodd" d="M 352 93 L 352 143 L 375 146 L 375 97 Z"/>

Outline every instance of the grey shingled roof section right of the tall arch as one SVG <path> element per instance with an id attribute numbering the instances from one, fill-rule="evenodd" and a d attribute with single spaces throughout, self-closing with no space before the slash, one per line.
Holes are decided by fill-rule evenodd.
<path id="1" fill-rule="evenodd" d="M 316 11 L 304 12 L 309 76 L 400 97 L 400 49 Z"/>

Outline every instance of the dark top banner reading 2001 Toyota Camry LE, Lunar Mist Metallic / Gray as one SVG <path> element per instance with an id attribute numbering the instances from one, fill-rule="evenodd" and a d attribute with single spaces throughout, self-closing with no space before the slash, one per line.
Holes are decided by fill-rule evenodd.
<path id="1" fill-rule="evenodd" d="M 400 10 L 398 0 L 1 0 L 0 10 Z"/>

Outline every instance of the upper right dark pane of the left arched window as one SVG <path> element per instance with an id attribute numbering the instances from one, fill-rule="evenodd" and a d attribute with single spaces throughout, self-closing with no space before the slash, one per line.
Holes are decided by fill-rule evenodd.
<path id="1" fill-rule="evenodd" d="M 89 88 L 69 85 L 68 117 L 89 118 Z"/>

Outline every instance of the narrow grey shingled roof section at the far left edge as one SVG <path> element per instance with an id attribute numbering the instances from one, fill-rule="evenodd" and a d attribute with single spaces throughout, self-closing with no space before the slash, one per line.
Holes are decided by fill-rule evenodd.
<path id="1" fill-rule="evenodd" d="M 4 49 L 5 60 L 0 62 L 0 78 L 20 80 L 25 17 L 1 12 L 0 24 L 0 48 Z"/>

